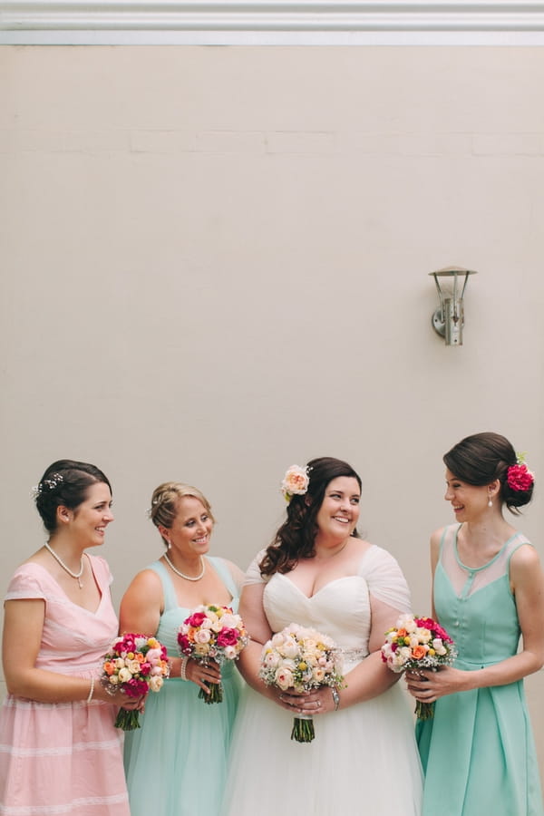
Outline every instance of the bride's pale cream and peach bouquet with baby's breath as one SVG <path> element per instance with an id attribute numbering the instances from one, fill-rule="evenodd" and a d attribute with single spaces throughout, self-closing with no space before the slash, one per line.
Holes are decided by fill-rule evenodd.
<path id="1" fill-rule="evenodd" d="M 342 687 L 341 671 L 340 653 L 330 637 L 289 624 L 263 646 L 258 676 L 266 685 L 303 694 L 320 685 Z M 291 739 L 311 743 L 315 736 L 311 714 L 298 714 Z"/>

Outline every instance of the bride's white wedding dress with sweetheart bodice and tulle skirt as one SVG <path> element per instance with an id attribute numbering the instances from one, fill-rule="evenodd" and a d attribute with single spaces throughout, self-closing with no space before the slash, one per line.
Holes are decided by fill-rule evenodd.
<path id="1" fill-rule="evenodd" d="M 263 582 L 258 562 L 248 583 Z M 273 632 L 296 622 L 332 637 L 344 650 L 345 675 L 368 655 L 369 593 L 410 611 L 403 574 L 372 546 L 357 575 L 306 597 L 287 575 L 267 581 L 264 607 Z M 349 682 L 349 677 L 347 678 Z M 411 704 L 400 684 L 383 695 L 314 718 L 312 743 L 291 741 L 293 714 L 247 687 L 231 747 L 225 816 L 419 816 L 422 771 Z"/>

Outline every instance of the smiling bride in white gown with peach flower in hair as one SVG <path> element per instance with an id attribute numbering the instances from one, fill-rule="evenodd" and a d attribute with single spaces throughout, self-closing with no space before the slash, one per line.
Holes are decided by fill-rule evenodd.
<path id="1" fill-rule="evenodd" d="M 403 574 L 356 530 L 361 480 L 346 462 L 309 461 L 287 471 L 287 520 L 248 569 L 239 611 L 251 636 L 239 660 L 248 686 L 231 747 L 225 816 L 365 812 L 418 816 L 422 772 L 413 719 L 382 662 L 385 631 L 410 611 Z M 345 686 L 304 695 L 258 678 L 262 645 L 290 623 L 335 640 Z M 311 714 L 316 738 L 289 739 Z"/>

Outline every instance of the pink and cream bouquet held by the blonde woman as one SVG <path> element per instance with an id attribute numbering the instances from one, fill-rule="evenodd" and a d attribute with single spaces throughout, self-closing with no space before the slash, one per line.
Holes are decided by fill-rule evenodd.
<path id="1" fill-rule="evenodd" d="M 219 665 L 226 660 L 236 660 L 248 645 L 248 640 L 242 618 L 230 607 L 216 607 L 213 604 L 193 609 L 178 632 L 180 654 L 204 665 L 210 660 L 215 660 Z M 199 697 L 205 703 L 221 703 L 223 686 L 220 683 L 209 684 L 209 694 L 201 688 Z"/>

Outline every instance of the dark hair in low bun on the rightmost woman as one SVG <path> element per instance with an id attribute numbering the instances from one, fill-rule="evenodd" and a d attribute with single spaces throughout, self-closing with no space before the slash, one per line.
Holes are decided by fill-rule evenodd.
<path id="1" fill-rule="evenodd" d="M 483 486 L 500 481 L 500 501 L 508 510 L 519 515 L 519 507 L 529 504 L 534 481 L 527 490 L 514 490 L 508 483 L 509 468 L 518 463 L 512 445 L 500 433 L 474 433 L 458 442 L 443 457 L 444 464 L 453 476 L 467 484 Z"/>

